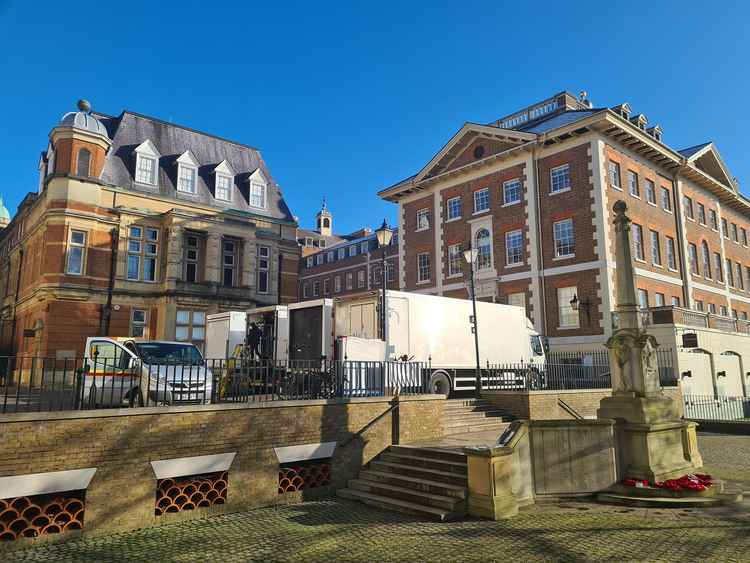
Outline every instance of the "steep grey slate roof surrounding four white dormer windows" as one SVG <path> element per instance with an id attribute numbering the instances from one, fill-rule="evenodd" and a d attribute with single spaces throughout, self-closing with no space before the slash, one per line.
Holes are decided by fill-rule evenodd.
<path id="1" fill-rule="evenodd" d="M 96 113 L 112 139 L 112 148 L 104 163 L 102 181 L 142 193 L 159 193 L 176 200 L 194 201 L 225 210 L 250 213 L 275 221 L 295 223 L 281 190 L 274 182 L 260 152 L 250 146 L 228 141 L 201 131 L 167 123 L 160 119 L 123 111 L 119 116 Z M 158 189 L 135 183 L 134 150 L 150 140 L 159 151 Z M 190 150 L 198 161 L 197 194 L 178 192 L 177 158 Z M 232 202 L 214 198 L 216 166 L 226 160 L 235 171 Z M 266 209 L 248 203 L 250 175 L 260 168 L 267 181 Z"/>

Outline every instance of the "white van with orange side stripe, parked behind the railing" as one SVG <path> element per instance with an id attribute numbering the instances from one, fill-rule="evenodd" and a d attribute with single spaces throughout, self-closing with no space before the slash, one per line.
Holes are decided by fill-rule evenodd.
<path id="1" fill-rule="evenodd" d="M 83 405 L 208 403 L 213 373 L 189 342 L 86 339 Z"/>

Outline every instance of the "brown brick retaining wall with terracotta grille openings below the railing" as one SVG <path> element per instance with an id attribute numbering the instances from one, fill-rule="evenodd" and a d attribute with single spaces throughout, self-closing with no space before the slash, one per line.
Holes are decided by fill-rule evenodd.
<path id="1" fill-rule="evenodd" d="M 96 467 L 86 490 L 84 534 L 268 506 L 289 499 L 277 492 L 279 464 L 274 447 L 337 441 L 332 484 L 323 491 L 330 493 L 391 443 L 442 435 L 442 395 L 402 397 L 400 408 L 394 411 L 397 417 L 393 413 L 383 416 L 363 439 L 341 446 L 386 412 L 391 400 L 5 415 L 0 417 L 0 477 Z M 156 477 L 151 461 L 227 452 L 237 455 L 229 469 L 226 504 L 154 515 Z M 292 500 L 308 496 L 305 491 L 292 495 Z"/>

